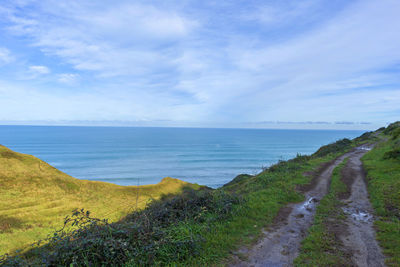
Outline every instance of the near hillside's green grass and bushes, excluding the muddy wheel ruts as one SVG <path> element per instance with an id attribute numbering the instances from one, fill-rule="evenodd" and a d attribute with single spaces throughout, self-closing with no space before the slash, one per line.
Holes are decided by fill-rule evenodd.
<path id="1" fill-rule="evenodd" d="M 6 258 L 4 263 L 6 266 L 27 263 L 40 266 L 43 262 L 52 266 L 199 266 L 221 264 L 232 256 L 242 258 L 245 256 L 236 253 L 237 249 L 257 240 L 262 228 L 279 220 L 279 211 L 286 204 L 304 200 L 302 192 L 313 183 L 324 163 L 356 145 L 384 140 L 363 160 L 371 201 L 381 216 L 377 222 L 378 238 L 386 255 L 392 257 L 388 262 L 395 265 L 400 247 L 400 163 L 396 152 L 399 135 L 397 127 L 388 128 L 391 130 L 380 129 L 354 140 L 339 140 L 311 156 L 280 161 L 258 175 L 239 175 L 217 190 L 184 189 L 182 194 L 164 196 L 116 223 L 94 218 L 102 218 L 98 213 L 92 216 L 77 212 L 70 223 L 77 222 L 78 229 L 56 232 L 48 245 Z M 324 227 L 327 216 L 341 220 L 340 214 L 332 210 L 338 209 L 337 194 L 345 190 L 339 180 L 342 167 L 343 164 L 335 170 L 330 193 L 321 201 L 311 235 L 304 241 L 308 244 L 306 249 L 319 253 L 312 259 L 315 264 L 335 261 L 335 257 L 318 249 L 336 246 L 337 240 L 331 239 Z M 134 202 L 125 203 L 132 207 Z M 339 257 L 345 262 L 346 255 Z M 297 261 L 299 265 L 310 263 L 308 258 Z"/>

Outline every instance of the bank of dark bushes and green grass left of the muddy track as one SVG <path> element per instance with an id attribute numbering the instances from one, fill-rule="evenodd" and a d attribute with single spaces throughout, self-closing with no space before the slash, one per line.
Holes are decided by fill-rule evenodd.
<path id="1" fill-rule="evenodd" d="M 341 140 L 312 156 L 299 155 L 258 175 L 239 176 L 217 190 L 186 190 L 114 224 L 78 213 L 74 219 L 87 222 L 78 230 L 55 233 L 49 245 L 6 261 L 61 266 L 218 263 L 239 245 L 254 242 L 287 203 L 302 201 L 312 173 L 352 147 Z"/>

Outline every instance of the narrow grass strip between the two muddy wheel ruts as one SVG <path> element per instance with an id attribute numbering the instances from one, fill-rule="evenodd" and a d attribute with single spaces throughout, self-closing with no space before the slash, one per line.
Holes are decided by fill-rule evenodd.
<path id="1" fill-rule="evenodd" d="M 351 266 L 341 250 L 341 241 L 331 229 L 335 224 L 343 224 L 345 219 L 338 196 L 348 190 L 341 181 L 341 170 L 346 162 L 347 159 L 333 171 L 329 193 L 317 207 L 314 223 L 294 260 L 295 266 Z"/>

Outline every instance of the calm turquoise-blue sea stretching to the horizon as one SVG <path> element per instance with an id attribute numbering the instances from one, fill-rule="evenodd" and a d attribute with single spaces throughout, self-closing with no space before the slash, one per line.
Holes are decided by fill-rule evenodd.
<path id="1" fill-rule="evenodd" d="M 170 176 L 212 187 L 240 173 L 362 131 L 0 126 L 0 144 L 79 179 L 154 184 Z"/>

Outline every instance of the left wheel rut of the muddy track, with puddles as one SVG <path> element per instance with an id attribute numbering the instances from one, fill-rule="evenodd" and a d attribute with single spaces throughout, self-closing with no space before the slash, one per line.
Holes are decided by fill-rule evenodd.
<path id="1" fill-rule="evenodd" d="M 357 151 L 346 153 L 327 165 L 318 176 L 316 186 L 305 194 L 306 201 L 289 204 L 284 209 L 288 213 L 285 219 L 273 228 L 264 230 L 264 238 L 254 247 L 239 251 L 247 256 L 248 261 L 236 259 L 231 266 L 291 266 L 313 222 L 317 203 L 328 191 L 333 169 L 346 157 L 356 154 Z"/>

